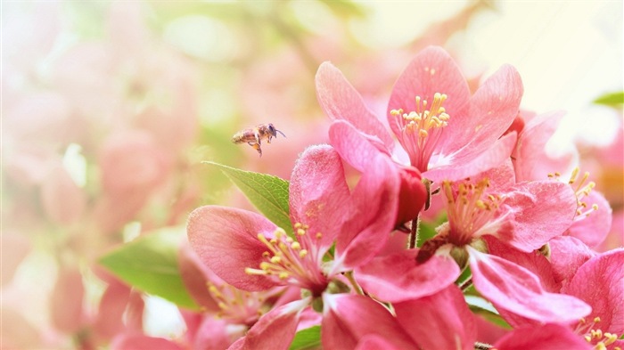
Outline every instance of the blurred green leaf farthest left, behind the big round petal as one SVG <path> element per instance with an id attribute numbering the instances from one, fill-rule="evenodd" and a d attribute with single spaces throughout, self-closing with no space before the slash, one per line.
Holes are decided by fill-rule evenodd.
<path id="1" fill-rule="evenodd" d="M 100 264 L 136 289 L 187 309 L 199 310 L 186 291 L 177 265 L 184 227 L 146 233 L 100 258 Z"/>

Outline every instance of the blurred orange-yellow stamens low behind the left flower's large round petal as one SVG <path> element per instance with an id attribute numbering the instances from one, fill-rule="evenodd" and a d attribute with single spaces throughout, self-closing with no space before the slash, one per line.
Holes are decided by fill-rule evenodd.
<path id="1" fill-rule="evenodd" d="M 217 317 L 242 324 L 254 324 L 266 311 L 262 293 L 236 289 L 229 284 L 208 283 L 208 291 L 221 309 Z"/>

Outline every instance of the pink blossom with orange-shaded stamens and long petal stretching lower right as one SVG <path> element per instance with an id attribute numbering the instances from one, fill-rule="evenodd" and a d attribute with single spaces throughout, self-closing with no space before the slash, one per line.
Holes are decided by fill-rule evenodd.
<path id="1" fill-rule="evenodd" d="M 568 323 L 587 315 L 590 308 L 575 297 L 543 289 L 530 271 L 486 251 L 486 235 L 505 245 L 530 252 L 570 225 L 576 199 L 567 184 L 553 182 L 509 185 L 510 167 L 499 167 L 473 182 L 442 185 L 447 197 L 448 223 L 438 236 L 424 243 L 417 260 L 424 262 L 439 247 L 450 245 L 450 255 L 472 270 L 472 282 L 497 308 L 538 322 Z"/>

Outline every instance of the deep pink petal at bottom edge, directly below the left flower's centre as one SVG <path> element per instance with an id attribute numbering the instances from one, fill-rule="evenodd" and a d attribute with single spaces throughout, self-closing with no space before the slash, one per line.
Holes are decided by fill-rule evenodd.
<path id="1" fill-rule="evenodd" d="M 390 311 L 370 297 L 324 293 L 323 305 L 321 341 L 326 349 L 354 349 L 359 339 L 370 335 L 382 336 L 398 348 L 415 348 Z"/>

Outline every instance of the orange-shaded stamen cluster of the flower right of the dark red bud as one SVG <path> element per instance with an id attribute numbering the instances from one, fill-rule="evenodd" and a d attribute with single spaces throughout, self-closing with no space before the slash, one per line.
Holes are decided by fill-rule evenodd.
<path id="1" fill-rule="evenodd" d="M 447 196 L 448 239 L 461 247 L 469 244 L 474 233 L 492 220 L 504 198 L 494 194 L 484 195 L 489 187 L 487 178 L 476 185 L 468 181 L 459 183 L 456 193 L 451 184 L 448 181 L 442 183 Z"/>

